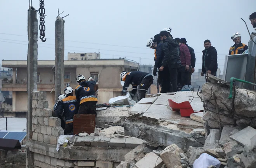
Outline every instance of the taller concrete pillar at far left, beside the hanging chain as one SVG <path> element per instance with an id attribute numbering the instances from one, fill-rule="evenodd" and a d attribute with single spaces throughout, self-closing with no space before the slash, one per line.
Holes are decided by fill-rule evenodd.
<path id="1" fill-rule="evenodd" d="M 37 38 L 38 20 L 37 12 L 33 7 L 28 9 L 28 57 L 27 57 L 27 93 L 28 93 L 28 113 L 27 113 L 27 140 L 32 138 L 32 92 L 37 91 Z M 26 150 L 26 168 L 33 167 L 33 153 Z"/>

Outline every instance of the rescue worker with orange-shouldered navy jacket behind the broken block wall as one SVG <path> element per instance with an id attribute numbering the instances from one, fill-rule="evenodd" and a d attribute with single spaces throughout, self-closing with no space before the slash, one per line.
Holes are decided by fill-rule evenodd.
<path id="1" fill-rule="evenodd" d="M 79 103 L 76 100 L 76 96 L 73 96 L 73 89 L 67 86 L 64 89 L 66 98 L 62 99 L 57 105 L 57 114 L 61 115 L 64 110 L 64 117 L 66 120 L 66 126 L 64 130 L 65 135 L 73 135 L 73 116 L 78 113 Z"/>

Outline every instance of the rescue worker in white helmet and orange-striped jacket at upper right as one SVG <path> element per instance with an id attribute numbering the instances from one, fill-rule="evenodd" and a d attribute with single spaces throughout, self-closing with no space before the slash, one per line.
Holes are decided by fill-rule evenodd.
<path id="1" fill-rule="evenodd" d="M 235 42 L 229 49 L 228 55 L 242 54 L 245 50 L 248 49 L 248 46 L 241 43 L 241 34 L 235 33 L 231 36 L 231 39 Z"/>

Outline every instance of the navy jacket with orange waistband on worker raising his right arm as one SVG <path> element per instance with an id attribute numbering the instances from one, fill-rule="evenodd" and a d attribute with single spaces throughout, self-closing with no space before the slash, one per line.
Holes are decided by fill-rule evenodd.
<path id="1" fill-rule="evenodd" d="M 98 101 L 94 91 L 95 84 L 96 81 L 81 81 L 76 87 L 76 99 L 80 105 L 86 101 Z"/>

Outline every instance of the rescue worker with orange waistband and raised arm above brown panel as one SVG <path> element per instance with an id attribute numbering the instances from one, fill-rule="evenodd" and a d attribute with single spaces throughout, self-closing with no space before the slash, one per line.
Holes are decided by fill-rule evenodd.
<path id="1" fill-rule="evenodd" d="M 80 74 L 77 76 L 76 81 L 79 84 L 75 89 L 76 99 L 80 103 L 78 114 L 95 114 L 96 117 L 96 105 L 98 101 L 94 91 L 96 81 L 93 79 L 85 81 L 85 77 Z"/>

